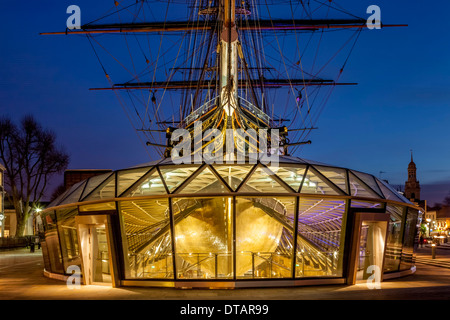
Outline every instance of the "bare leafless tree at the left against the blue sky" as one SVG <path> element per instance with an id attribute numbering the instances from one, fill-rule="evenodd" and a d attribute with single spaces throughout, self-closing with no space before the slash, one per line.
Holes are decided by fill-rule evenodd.
<path id="1" fill-rule="evenodd" d="M 16 236 L 22 236 L 33 206 L 41 201 L 51 176 L 67 168 L 69 156 L 56 146 L 52 131 L 25 116 L 19 126 L 0 118 L 0 159 L 6 168 L 6 194 L 16 211 Z"/>

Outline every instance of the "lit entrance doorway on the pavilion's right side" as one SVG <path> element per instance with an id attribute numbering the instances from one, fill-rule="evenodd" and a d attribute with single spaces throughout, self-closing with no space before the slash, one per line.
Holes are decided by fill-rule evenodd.
<path id="1" fill-rule="evenodd" d="M 362 221 L 356 280 L 367 280 L 374 272 L 383 272 L 386 221 Z"/>

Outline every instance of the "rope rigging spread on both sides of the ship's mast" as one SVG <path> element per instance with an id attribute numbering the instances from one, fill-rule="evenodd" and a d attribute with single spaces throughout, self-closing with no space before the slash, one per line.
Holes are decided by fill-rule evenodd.
<path id="1" fill-rule="evenodd" d="M 218 17 L 222 1 L 192 0 L 188 6 L 183 1 L 131 2 L 115 1 L 114 6 L 102 17 L 84 25 L 83 31 L 94 28 L 95 33 L 100 33 L 99 26 L 130 28 L 122 30 L 120 27 L 120 32 L 111 33 L 108 39 L 104 37 L 109 33 L 102 35 L 102 38 L 100 35 L 87 33 L 86 37 L 110 88 L 126 110 L 127 118 L 140 139 L 164 144 L 164 132 L 168 126 L 184 127 L 185 119 L 192 112 L 219 95 L 221 22 Z M 239 82 L 238 95 L 270 115 L 269 125 L 286 125 L 292 131 L 291 141 L 306 140 L 312 130 L 316 129 L 319 115 L 341 79 L 363 28 L 359 27 L 350 37 L 344 34 L 348 39 L 342 41 L 340 47 L 330 50 L 328 43 L 325 47 L 325 35 L 333 32 L 334 37 L 335 31 L 346 30 L 346 22 L 343 22 L 342 29 L 339 29 L 339 25 L 337 28 L 315 29 L 303 27 L 303 23 L 310 21 L 309 25 L 314 26 L 314 19 L 318 19 L 320 14 L 325 16 L 319 17 L 319 25 L 322 23 L 320 19 L 328 21 L 332 13 L 346 14 L 358 20 L 361 18 L 347 12 L 336 1 L 238 2 L 235 24 L 239 35 L 239 80 L 234 80 Z M 294 32 L 280 26 L 280 15 L 283 21 L 290 23 Z M 117 17 L 118 24 L 101 24 L 114 16 Z M 184 22 L 177 22 L 182 26 L 179 31 L 170 31 L 175 21 L 183 20 Z M 152 23 L 159 26 L 155 32 L 151 29 L 148 32 L 135 32 L 130 27 L 135 24 L 144 28 L 145 24 L 149 24 L 148 28 L 153 28 Z M 115 34 L 123 38 L 123 46 L 111 46 L 117 42 L 113 36 Z M 231 38 L 231 34 L 229 37 Z M 350 49 L 337 68 L 337 58 L 342 56 L 348 46 Z M 106 54 L 99 54 L 97 48 L 101 48 Z M 230 48 L 231 46 L 228 50 Z M 231 59 L 231 51 L 228 57 Z M 119 69 L 111 67 L 112 65 L 119 66 Z M 227 65 L 230 68 L 231 60 Z M 111 74 L 107 72 L 110 68 L 114 69 L 115 79 L 128 75 L 128 80 L 112 82 Z M 230 72 L 231 69 L 228 70 L 228 81 L 232 78 Z M 335 76 L 330 78 L 330 74 Z M 273 84 L 268 85 L 271 81 Z M 324 81 L 330 81 L 326 89 L 323 84 L 327 83 Z M 172 87 L 173 83 L 186 85 L 178 88 Z M 277 86 L 287 86 L 289 90 L 275 90 Z M 128 103 L 118 90 L 122 87 Z M 227 100 L 231 101 L 231 97 Z M 239 104 L 239 101 L 236 103 Z M 302 147 L 294 146 L 291 153 L 300 151 Z M 156 149 L 158 154 L 162 154 L 160 148 Z"/>

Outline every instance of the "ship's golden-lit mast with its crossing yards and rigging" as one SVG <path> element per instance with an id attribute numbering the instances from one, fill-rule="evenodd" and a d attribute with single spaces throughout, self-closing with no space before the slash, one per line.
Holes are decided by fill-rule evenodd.
<path id="1" fill-rule="evenodd" d="M 134 0 L 130 0 L 130 2 L 134 2 Z M 198 127 L 203 132 L 212 129 L 219 130 L 223 134 L 222 141 L 221 139 L 210 139 L 211 136 L 214 137 L 214 134 L 211 134 L 208 138 L 209 140 L 205 139 L 205 143 L 201 146 L 202 148 L 210 147 L 212 140 L 218 140 L 222 143 L 222 146 L 224 146 L 225 142 L 227 144 L 234 144 L 236 150 L 246 151 L 258 145 L 258 138 L 250 139 L 250 137 L 245 137 L 245 134 L 250 131 L 259 132 L 261 129 L 264 131 L 275 128 L 282 129 L 284 136 L 287 136 L 288 128 L 286 126 L 279 126 L 282 122 L 290 122 L 291 120 L 289 119 L 292 119 L 292 122 L 289 124 L 289 131 L 294 133 L 292 140 L 302 140 L 303 133 L 309 132 L 307 127 L 313 128 L 314 124 L 312 121 L 316 121 L 313 118 L 311 110 L 314 112 L 317 109 L 317 113 L 320 113 L 323 104 L 328 100 L 329 94 L 324 92 L 324 90 L 319 92 L 319 89 L 328 86 L 330 89 L 327 90 L 331 92 L 335 86 L 356 85 L 353 82 L 339 81 L 343 68 L 340 69 L 339 75 L 335 80 L 324 79 L 320 75 L 322 69 L 317 72 L 317 69 L 313 70 L 312 68 L 311 71 L 307 70 L 304 72 L 301 59 L 303 58 L 303 53 L 306 52 L 306 48 L 308 48 L 312 35 L 316 31 L 320 31 L 322 34 L 325 31 L 356 29 L 359 35 L 359 31 L 363 30 L 366 26 L 366 19 L 358 18 L 354 15 L 351 18 L 333 19 L 328 18 L 328 14 L 326 19 L 316 19 L 311 14 L 315 12 L 314 10 L 310 10 L 308 18 L 292 12 L 292 19 L 272 19 L 270 14 L 270 19 L 267 19 L 264 18 L 264 15 L 260 18 L 258 8 L 256 7 L 258 1 L 252 1 L 252 4 L 249 5 L 247 1 L 236 3 L 236 0 L 209 0 L 200 1 L 200 4 L 192 6 L 193 11 L 190 12 L 188 21 L 170 21 L 167 14 L 164 21 L 161 21 L 159 20 L 162 18 L 161 16 L 157 19 L 148 19 L 148 15 L 146 16 L 144 14 L 144 10 L 146 9 L 144 2 L 147 1 L 136 1 L 136 4 L 130 4 L 129 6 L 116 2 L 115 5 L 120 7 L 116 9 L 120 20 L 119 23 L 109 22 L 106 19 L 102 20 L 103 18 L 109 17 L 110 14 L 108 14 L 101 19 L 96 19 L 90 23 L 81 25 L 79 29 L 66 29 L 62 32 L 41 34 L 86 35 L 110 84 L 110 87 L 107 88 L 91 88 L 90 90 L 112 90 L 117 95 L 121 104 L 123 104 L 121 96 L 125 96 L 127 99 L 129 98 L 131 100 L 130 109 L 137 114 L 137 125 L 135 127 L 142 127 L 142 131 L 145 132 L 148 140 L 155 140 L 153 133 L 167 130 L 165 136 L 167 149 L 174 147 L 168 141 L 175 127 L 188 129 L 192 136 L 198 135 L 198 130 L 194 130 L 195 127 Z M 163 1 L 154 2 L 162 3 Z M 169 4 L 172 2 L 168 1 L 167 3 L 166 13 L 170 13 Z M 179 3 L 182 4 L 183 2 Z M 309 7 L 309 3 L 307 6 Z M 136 7 L 134 13 L 130 11 L 131 7 Z M 320 7 L 322 7 L 322 4 L 316 9 Z M 154 7 L 149 8 L 149 10 L 154 11 Z M 196 12 L 196 10 L 199 11 Z M 304 10 L 306 12 L 305 6 Z M 132 14 L 132 20 L 123 19 L 122 15 L 125 12 Z M 252 12 L 256 13 L 254 18 L 251 18 Z M 195 17 L 195 19 L 192 19 L 192 17 Z M 100 23 L 100 21 L 103 23 Z M 382 27 L 399 26 L 406 25 L 382 24 Z M 268 35 L 268 37 L 275 35 L 275 38 L 277 37 L 277 33 L 294 35 L 297 41 L 297 48 L 295 54 L 290 57 L 293 60 L 289 61 L 289 59 L 284 59 L 278 39 L 276 39 L 276 42 L 269 42 L 267 47 L 262 45 L 262 40 L 261 42 L 255 41 L 255 38 L 261 37 L 263 33 L 264 35 Z M 299 46 L 297 39 L 297 34 L 301 33 L 311 34 L 304 49 Z M 97 34 L 123 35 L 131 59 L 131 66 L 122 64 L 114 54 L 102 46 L 98 41 L 99 37 L 95 37 Z M 183 37 L 179 43 L 173 42 L 173 51 L 171 51 L 172 41 L 168 42 L 168 46 L 164 46 L 166 42 L 162 41 L 162 38 L 166 35 Z M 154 49 L 153 44 L 156 42 L 152 42 L 149 39 L 150 36 L 160 37 L 158 41 L 159 46 L 155 45 Z M 189 40 L 185 40 L 184 37 L 186 36 L 189 37 Z M 143 40 L 141 41 L 141 39 Z M 148 42 L 148 50 L 145 50 L 145 39 Z M 322 35 L 320 39 L 322 39 Z M 355 43 L 357 39 L 358 36 L 355 37 Z M 350 40 L 353 42 L 353 38 L 351 37 L 344 46 L 350 43 Z M 185 50 L 184 65 L 177 66 L 179 64 L 178 62 L 183 61 L 182 46 L 185 45 L 186 41 L 189 41 L 189 43 L 188 50 Z M 198 43 L 197 41 L 202 41 L 200 46 L 195 46 Z M 193 44 L 192 47 L 191 43 Z M 94 44 L 96 45 L 95 47 Z M 175 50 L 178 44 L 179 48 Z M 135 63 L 134 52 L 130 50 L 130 45 L 131 48 L 133 45 L 135 46 L 136 55 L 142 53 L 145 58 L 145 65 L 139 62 Z M 289 45 L 293 46 L 294 44 L 289 43 Z M 199 50 L 193 49 L 194 47 L 198 47 Z M 214 47 L 217 49 L 214 50 Z M 105 70 L 105 66 L 100 60 L 95 48 L 99 48 L 103 53 L 106 52 L 106 56 L 115 60 L 125 70 L 127 76 L 131 74 L 132 78 L 127 82 L 113 81 L 110 78 L 110 73 Z M 151 51 L 156 49 L 158 50 L 158 58 L 152 59 Z M 167 49 L 167 51 L 164 49 Z M 260 51 L 259 49 L 263 50 Z M 266 54 L 264 51 L 266 49 L 269 60 L 271 61 L 266 62 L 264 58 L 264 63 L 260 64 L 258 58 Z M 315 52 L 313 67 L 318 57 L 318 49 Z M 272 50 L 279 52 L 280 57 L 270 57 Z M 352 49 L 350 53 L 351 51 Z M 165 55 L 166 52 L 172 54 L 171 58 L 173 60 L 160 59 L 159 55 Z M 324 66 L 328 65 L 337 53 L 331 56 Z M 149 55 L 150 59 L 148 59 Z M 155 60 L 155 62 L 151 63 L 151 60 Z M 171 61 L 174 61 L 174 63 L 172 64 Z M 317 59 L 317 61 L 320 60 Z M 284 70 L 278 70 L 276 68 L 278 63 L 280 65 L 281 63 L 284 64 Z M 263 73 L 262 70 L 267 66 L 271 67 L 271 71 Z M 288 70 L 289 66 L 291 66 L 292 72 Z M 168 67 L 171 68 L 165 70 Z M 329 77 L 329 74 L 326 77 Z M 116 79 L 115 75 L 114 79 Z M 281 99 L 277 97 L 276 100 L 270 101 L 268 99 L 270 97 L 267 94 L 269 90 L 273 92 L 274 90 L 272 89 L 283 87 L 289 88 L 286 94 L 285 115 L 274 112 L 275 109 L 281 109 L 280 106 L 283 103 Z M 311 90 L 307 90 L 306 87 L 311 87 Z M 155 98 L 155 92 L 157 90 L 163 92 L 161 102 L 158 101 L 158 103 L 156 103 L 157 100 Z M 182 91 L 179 95 L 181 96 L 180 105 L 178 106 L 176 103 L 171 102 L 172 109 L 176 110 L 177 113 L 179 112 L 179 119 L 175 119 L 173 115 L 167 117 L 167 114 L 164 113 L 166 103 L 163 104 L 162 101 L 164 94 L 169 90 Z M 211 93 L 214 95 L 213 97 Z M 323 100 L 316 99 L 319 96 L 323 97 Z M 302 99 L 302 97 L 304 98 Z M 296 102 L 292 110 L 293 112 L 289 111 L 287 113 L 288 103 L 292 100 Z M 167 101 L 167 98 L 164 101 Z M 136 108 L 137 104 L 143 106 L 144 109 L 142 110 L 145 113 L 138 111 Z M 313 109 L 312 104 L 314 104 Z M 272 105 L 272 114 L 268 112 L 270 105 Z M 316 105 L 318 105 L 317 108 Z M 154 112 L 154 120 L 152 119 L 152 111 Z M 164 116 L 164 119 L 160 118 L 161 114 Z M 289 117 L 285 118 L 288 115 Z M 311 123 L 308 123 L 308 120 Z M 172 124 L 172 127 L 166 126 L 168 124 Z M 236 132 L 243 132 L 243 134 L 239 133 L 238 137 L 226 137 L 226 129 L 237 129 L 233 130 L 235 135 Z M 300 139 L 296 136 L 296 132 L 298 131 L 301 131 Z M 305 135 L 307 136 L 307 134 Z M 160 141 L 164 139 L 164 135 L 156 135 L 159 135 Z M 229 141 L 223 141 L 226 139 Z M 307 142 L 290 142 L 286 138 L 284 146 L 294 146 Z M 164 147 L 161 143 L 157 144 L 153 142 L 148 142 L 147 145 L 153 145 L 158 148 Z M 270 141 L 268 141 L 268 145 L 270 145 Z M 225 150 L 228 149 L 225 148 Z M 287 154 L 287 149 L 285 150 Z M 231 153 L 227 154 L 225 158 L 232 158 L 233 155 Z"/>

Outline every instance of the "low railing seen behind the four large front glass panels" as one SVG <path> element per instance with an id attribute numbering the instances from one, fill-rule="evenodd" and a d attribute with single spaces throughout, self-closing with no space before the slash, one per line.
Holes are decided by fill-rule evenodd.
<path id="1" fill-rule="evenodd" d="M 178 279 L 230 279 L 233 278 L 233 254 L 178 253 L 176 274 Z M 135 278 L 173 278 L 173 255 L 165 253 L 151 257 L 146 254 L 130 256 L 132 276 Z M 292 255 L 281 252 L 236 252 L 238 279 L 290 278 Z M 297 254 L 295 276 L 335 276 L 338 257 L 331 252 Z M 242 271 L 241 266 L 246 268 Z M 248 267 L 248 268 L 247 268 Z"/>

